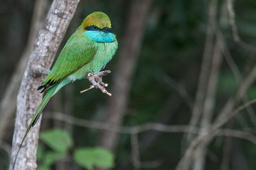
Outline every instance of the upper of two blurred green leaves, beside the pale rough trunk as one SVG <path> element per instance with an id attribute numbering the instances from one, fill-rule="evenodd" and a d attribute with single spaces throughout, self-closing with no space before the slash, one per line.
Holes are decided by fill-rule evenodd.
<path id="1" fill-rule="evenodd" d="M 51 129 L 41 132 L 39 138 L 57 152 L 67 152 L 68 148 L 73 145 L 71 135 L 61 129 Z"/>

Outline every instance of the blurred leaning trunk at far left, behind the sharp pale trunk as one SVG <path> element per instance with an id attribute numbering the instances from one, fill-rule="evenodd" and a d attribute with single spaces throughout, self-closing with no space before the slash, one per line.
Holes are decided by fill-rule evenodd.
<path id="1" fill-rule="evenodd" d="M 13 116 L 13 113 L 16 109 L 16 105 L 13 103 L 16 103 L 17 101 L 17 95 L 18 90 L 20 87 L 20 82 L 23 77 L 23 73 L 27 67 L 28 64 L 28 58 L 31 53 L 34 41 L 36 39 L 36 35 L 39 31 L 39 29 L 42 27 L 46 13 L 45 11 L 49 8 L 48 1 L 44 0 L 36 0 L 35 7 L 33 11 L 33 18 L 32 23 L 28 35 L 28 43 L 23 51 L 20 61 L 18 62 L 19 65 L 17 65 L 15 71 L 12 74 L 12 77 L 10 78 L 9 83 L 5 87 L 4 95 L 1 99 L 0 104 L 0 141 L 3 138 L 4 133 L 6 132 L 5 127 L 10 122 L 10 119 Z M 1 146 L 1 142 L 0 142 Z"/>

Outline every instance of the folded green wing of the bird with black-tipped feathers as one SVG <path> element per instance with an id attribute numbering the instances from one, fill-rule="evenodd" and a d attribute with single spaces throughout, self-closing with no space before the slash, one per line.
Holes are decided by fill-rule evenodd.
<path id="1" fill-rule="evenodd" d="M 53 85 L 56 85 L 76 72 L 76 70 L 83 67 L 86 63 L 90 62 L 95 56 L 96 50 L 92 48 L 91 44 L 86 44 L 84 47 L 80 44 L 81 41 L 71 42 L 68 41 L 64 46 L 52 70 L 37 90 L 42 88 L 44 88 L 42 92 L 48 90 Z M 83 47 L 83 49 L 81 49 L 81 47 Z"/>

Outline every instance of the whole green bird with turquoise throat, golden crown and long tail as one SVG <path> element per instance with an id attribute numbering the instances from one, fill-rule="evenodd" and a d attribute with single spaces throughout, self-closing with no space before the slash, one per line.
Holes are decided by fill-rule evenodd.
<path id="1" fill-rule="evenodd" d="M 47 90 L 48 92 L 28 126 L 16 154 L 12 169 L 14 169 L 21 145 L 28 131 L 35 125 L 50 98 L 64 85 L 87 78 L 89 72 L 99 72 L 111 60 L 116 53 L 116 49 L 116 34 L 111 29 L 108 15 L 103 12 L 93 12 L 88 15 L 81 26 L 68 39 L 52 70 L 42 85 L 37 89 L 44 88 L 42 92 Z"/>

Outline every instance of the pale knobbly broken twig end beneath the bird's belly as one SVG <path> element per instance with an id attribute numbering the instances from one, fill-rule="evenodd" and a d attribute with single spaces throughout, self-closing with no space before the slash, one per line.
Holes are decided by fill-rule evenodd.
<path id="1" fill-rule="evenodd" d="M 109 74 L 110 72 L 111 72 L 111 71 L 109 71 L 109 70 L 105 70 L 105 71 L 100 71 L 100 72 L 89 73 L 89 74 L 87 75 L 87 78 L 88 78 L 88 80 L 92 83 L 92 85 L 91 85 L 88 89 L 85 89 L 85 90 L 81 91 L 80 93 L 86 92 L 86 91 L 88 91 L 88 90 L 90 90 L 90 89 L 96 87 L 96 88 L 99 88 L 99 89 L 101 90 L 101 92 L 106 93 L 106 94 L 108 94 L 109 96 L 111 96 L 112 94 L 109 93 L 109 92 L 105 89 L 105 87 L 107 87 L 108 84 L 102 82 L 102 77 L 103 77 L 103 76 L 106 76 L 106 75 Z"/>

